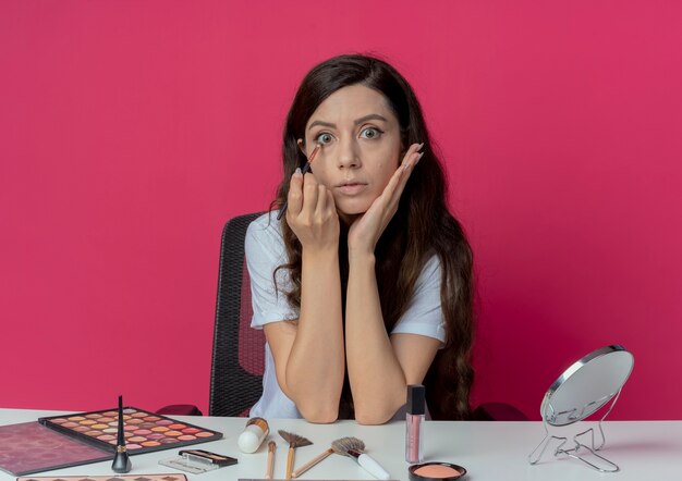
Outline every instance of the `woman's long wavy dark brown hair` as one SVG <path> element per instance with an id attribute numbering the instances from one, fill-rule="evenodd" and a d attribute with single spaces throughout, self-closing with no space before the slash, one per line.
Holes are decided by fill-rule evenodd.
<path id="1" fill-rule="evenodd" d="M 305 125 L 317 107 L 331 94 L 350 85 L 373 88 L 387 99 L 398 118 L 403 148 L 424 143 L 424 156 L 414 168 L 403 190 L 398 211 L 379 239 L 376 275 L 387 332 L 405 312 L 425 262 L 437 255 L 441 266 L 440 300 L 447 333 L 424 384 L 434 419 L 465 419 L 470 414 L 468 395 L 474 380 L 471 350 L 474 340 L 473 257 L 462 226 L 446 206 L 446 176 L 422 114 L 419 102 L 407 82 L 385 61 L 349 54 L 329 59 L 315 66 L 303 79 L 284 126 L 282 157 L 284 177 L 271 208 L 284 203 L 289 182 L 306 158 L 296 140 L 305 138 Z M 285 295 L 301 308 L 301 243 L 281 220 L 289 262 L 291 291 Z M 339 259 L 343 304 L 348 285 L 348 226 L 342 223 Z M 341 395 L 339 416 L 353 416 L 348 375 Z"/>

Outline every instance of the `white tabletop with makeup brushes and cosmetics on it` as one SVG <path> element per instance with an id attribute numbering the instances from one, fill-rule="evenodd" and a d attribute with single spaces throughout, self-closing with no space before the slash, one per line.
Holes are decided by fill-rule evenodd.
<path id="1" fill-rule="evenodd" d="M 0 409 L 0 424 L 35 421 L 42 416 L 63 411 Z M 228 481 L 261 479 L 265 473 L 267 443 L 255 454 L 243 454 L 236 446 L 244 418 L 174 417 L 182 421 L 222 432 L 224 437 L 192 447 L 212 451 L 239 458 L 239 464 L 204 474 L 186 473 L 190 481 Z M 287 465 L 287 445 L 277 434 L 283 429 L 303 435 L 314 445 L 296 449 L 299 467 L 342 436 L 356 436 L 367 446 L 367 453 L 378 460 L 392 479 L 407 480 L 404 460 L 404 422 L 379 427 L 358 425 L 354 421 L 334 424 L 310 424 L 302 420 L 269 419 L 270 439 L 277 441 L 275 477 L 283 478 Z M 581 427 L 596 425 L 585 422 Z M 528 454 L 541 441 L 545 431 L 540 422 L 442 422 L 428 421 L 425 425 L 426 460 L 450 461 L 465 467 L 470 481 L 484 480 L 670 480 L 682 479 L 682 421 L 610 421 L 605 423 L 607 445 L 601 453 L 621 468 L 620 472 L 602 474 L 573 459 L 556 459 L 548 453 L 541 464 L 531 466 Z M 577 432 L 577 431 L 575 431 Z M 160 466 L 159 459 L 178 454 L 178 448 L 131 456 L 133 474 L 180 472 Z M 96 462 L 68 469 L 46 471 L 34 476 L 105 476 L 113 474 L 111 462 Z M 14 477 L 0 471 L 0 481 Z M 372 479 L 355 462 L 332 455 L 312 468 L 302 480 L 366 480 Z"/>

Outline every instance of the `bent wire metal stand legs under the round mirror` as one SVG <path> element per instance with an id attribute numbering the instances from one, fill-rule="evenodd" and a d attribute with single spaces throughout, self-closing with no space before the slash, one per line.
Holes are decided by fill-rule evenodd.
<path id="1" fill-rule="evenodd" d="M 600 456 L 599 454 L 597 454 L 597 451 L 601 449 L 605 445 L 606 445 L 606 436 L 604 435 L 604 420 L 606 419 L 607 416 L 609 416 L 609 412 L 611 412 L 611 409 L 613 409 L 613 406 L 616 405 L 616 402 L 618 400 L 618 397 L 620 396 L 620 392 L 621 390 L 618 390 L 618 393 L 616 393 L 616 395 L 612 397 L 611 399 L 611 404 L 609 406 L 609 409 L 606 411 L 606 414 L 601 417 L 601 419 L 599 419 L 599 435 L 601 436 L 601 442 L 599 443 L 598 446 L 595 446 L 595 429 L 594 428 L 589 428 L 585 431 L 582 431 L 577 434 L 575 434 L 573 436 L 573 447 L 564 447 L 565 444 L 569 442 L 569 437 L 567 436 L 557 436 L 557 435 L 550 435 L 549 434 L 549 425 L 547 423 L 547 419 L 546 417 L 543 417 L 543 425 L 545 427 L 545 437 L 543 437 L 543 441 L 540 441 L 540 444 L 537 445 L 537 447 L 535 449 L 533 449 L 533 452 L 528 455 L 528 462 L 531 462 L 532 465 L 536 465 L 539 462 L 539 460 L 541 459 L 543 455 L 545 454 L 545 451 L 547 449 L 547 446 L 549 446 L 549 443 L 552 440 L 556 441 L 560 441 L 560 444 L 557 446 L 557 448 L 555 449 L 555 457 L 559 457 L 561 455 L 565 455 L 569 457 L 572 457 L 573 459 L 577 459 L 580 461 L 583 461 L 584 464 L 586 464 L 587 466 L 589 466 L 593 469 L 596 469 L 599 472 L 618 472 L 620 471 L 619 466 L 613 462 L 610 461 L 609 459 L 605 458 L 604 456 Z M 587 407 L 587 406 L 586 406 Z M 584 411 L 585 409 L 583 409 Z M 559 415 L 567 415 L 569 412 L 559 412 Z M 575 420 L 582 419 L 581 414 L 572 414 L 571 416 L 569 416 L 569 418 L 571 417 L 575 417 Z M 558 429 L 557 427 L 553 427 L 555 429 Z M 581 436 L 585 436 L 589 434 L 589 445 L 584 444 L 580 441 Z M 541 447 L 541 449 L 540 449 Z M 539 453 L 538 453 L 539 449 Z M 595 465 L 594 462 L 588 461 L 587 459 L 585 459 L 584 457 L 582 457 L 579 453 L 581 452 L 581 449 L 586 449 L 587 452 L 589 452 L 589 454 L 596 456 L 597 458 L 601 459 L 605 464 L 606 467 L 599 467 L 597 465 Z M 537 456 L 536 456 L 536 453 Z"/>

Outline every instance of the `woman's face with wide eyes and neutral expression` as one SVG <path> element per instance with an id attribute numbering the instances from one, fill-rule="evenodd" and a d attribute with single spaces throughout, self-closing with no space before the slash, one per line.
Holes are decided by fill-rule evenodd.
<path id="1" fill-rule="evenodd" d="M 343 87 L 313 112 L 305 153 L 321 144 L 310 170 L 333 195 L 345 221 L 369 209 L 398 169 L 400 125 L 388 101 L 364 85 Z"/>

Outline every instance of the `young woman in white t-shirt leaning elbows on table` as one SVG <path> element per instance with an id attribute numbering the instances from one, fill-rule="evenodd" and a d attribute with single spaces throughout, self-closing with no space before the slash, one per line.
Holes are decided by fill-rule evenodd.
<path id="1" fill-rule="evenodd" d="M 301 172 L 315 148 L 310 172 Z M 265 330 L 252 416 L 312 422 L 462 419 L 473 381 L 472 252 L 419 103 L 386 62 L 341 55 L 303 79 L 287 118 L 284 178 L 252 223 L 252 325 Z"/>

